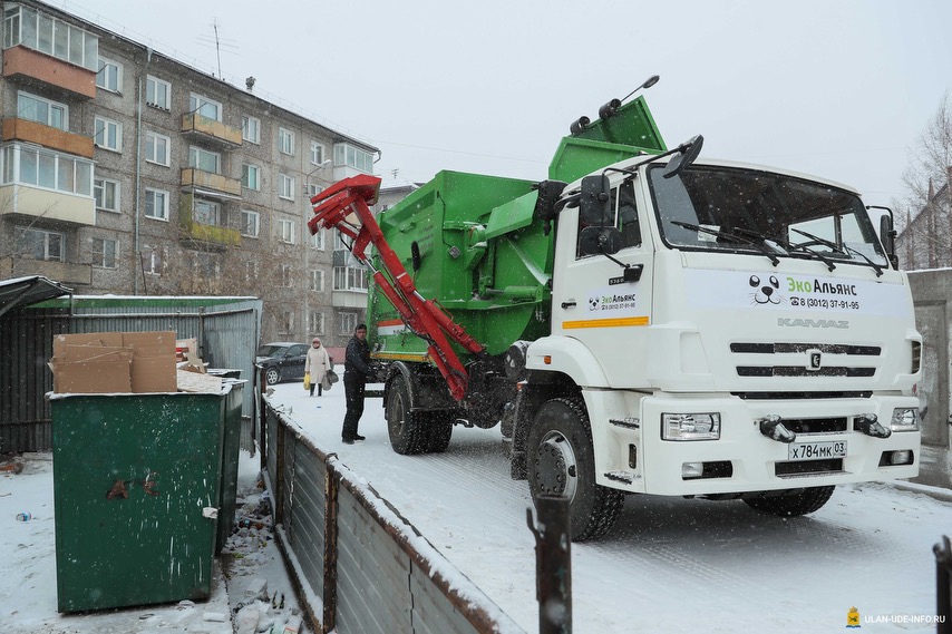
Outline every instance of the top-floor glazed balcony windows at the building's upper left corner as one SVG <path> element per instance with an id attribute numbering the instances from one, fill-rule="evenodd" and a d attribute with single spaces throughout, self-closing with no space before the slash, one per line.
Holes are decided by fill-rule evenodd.
<path id="1" fill-rule="evenodd" d="M 18 45 L 93 71 L 99 70 L 99 38 L 31 7 L 7 4 L 3 48 Z"/>

